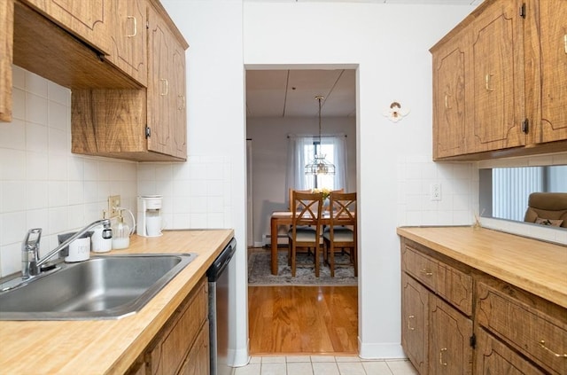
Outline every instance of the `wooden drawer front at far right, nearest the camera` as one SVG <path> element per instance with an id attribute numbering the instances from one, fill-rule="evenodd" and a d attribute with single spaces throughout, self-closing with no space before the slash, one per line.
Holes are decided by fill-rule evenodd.
<path id="1" fill-rule="evenodd" d="M 503 285 L 500 289 L 478 283 L 478 324 L 485 326 L 547 371 L 566 374 L 565 309 L 548 309 L 557 311 L 556 316 L 551 316 L 542 312 L 541 306 L 536 309 L 526 302 L 531 301 L 529 297 L 526 301 L 515 298 L 517 295 L 526 295 L 523 291 L 511 285 Z M 535 297 L 533 301 L 541 304 Z"/>

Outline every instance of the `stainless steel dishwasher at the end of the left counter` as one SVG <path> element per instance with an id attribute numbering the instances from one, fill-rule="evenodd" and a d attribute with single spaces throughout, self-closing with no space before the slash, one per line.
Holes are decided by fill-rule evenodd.
<path id="1" fill-rule="evenodd" d="M 206 271 L 209 280 L 209 340 L 211 375 L 229 375 L 229 272 L 227 267 L 237 251 L 232 238 Z"/>

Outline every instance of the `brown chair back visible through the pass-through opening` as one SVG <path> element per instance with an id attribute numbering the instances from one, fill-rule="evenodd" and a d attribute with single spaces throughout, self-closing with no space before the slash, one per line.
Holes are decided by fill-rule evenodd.
<path id="1" fill-rule="evenodd" d="M 532 192 L 524 222 L 567 228 L 567 192 Z"/>

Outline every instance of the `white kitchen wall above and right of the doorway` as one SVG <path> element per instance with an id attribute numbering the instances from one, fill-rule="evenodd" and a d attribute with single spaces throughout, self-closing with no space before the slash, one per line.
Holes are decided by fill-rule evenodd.
<path id="1" fill-rule="evenodd" d="M 431 161 L 429 48 L 470 6 L 245 2 L 245 64 L 358 66 L 362 357 L 402 357 L 396 226 L 470 224 L 473 166 Z M 397 123 L 393 100 L 411 113 Z M 429 200 L 440 182 L 443 200 Z"/>

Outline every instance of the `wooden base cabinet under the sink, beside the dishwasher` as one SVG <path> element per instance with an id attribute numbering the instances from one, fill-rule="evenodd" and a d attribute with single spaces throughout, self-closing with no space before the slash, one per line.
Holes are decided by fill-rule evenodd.
<path id="1" fill-rule="evenodd" d="M 208 294 L 203 277 L 127 373 L 206 375 L 209 355 Z"/>

